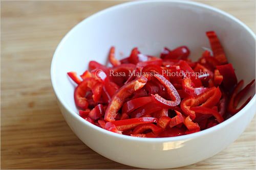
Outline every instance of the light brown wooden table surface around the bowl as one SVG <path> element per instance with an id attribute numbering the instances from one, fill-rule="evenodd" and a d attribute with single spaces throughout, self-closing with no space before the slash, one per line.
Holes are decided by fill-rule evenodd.
<path id="1" fill-rule="evenodd" d="M 200 1 L 255 32 L 255 1 Z M 124 1 L 1 1 L 1 169 L 133 169 L 83 144 L 57 106 L 51 59 L 84 18 Z M 179 169 L 255 169 L 255 117 L 221 153 Z"/>

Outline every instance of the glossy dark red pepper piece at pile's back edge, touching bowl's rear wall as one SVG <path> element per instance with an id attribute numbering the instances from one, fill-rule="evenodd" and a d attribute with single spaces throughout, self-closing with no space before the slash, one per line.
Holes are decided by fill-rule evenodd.
<path id="1" fill-rule="evenodd" d="M 163 56 L 163 59 L 178 59 L 185 60 L 190 54 L 190 51 L 186 46 L 179 46 L 172 51 L 168 51 L 168 53 Z"/>

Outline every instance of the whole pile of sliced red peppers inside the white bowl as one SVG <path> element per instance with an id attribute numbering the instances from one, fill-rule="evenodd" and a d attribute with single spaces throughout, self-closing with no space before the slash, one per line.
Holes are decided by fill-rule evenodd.
<path id="1" fill-rule="evenodd" d="M 164 48 L 160 58 L 133 48 L 129 57 L 115 58 L 111 47 L 106 67 L 96 61 L 77 76 L 74 100 L 79 115 L 103 129 L 136 137 L 172 137 L 195 133 L 222 123 L 240 111 L 242 90 L 214 31 L 206 32 L 211 51 L 191 62 L 189 50 Z M 240 90 L 240 91 L 239 91 Z"/>

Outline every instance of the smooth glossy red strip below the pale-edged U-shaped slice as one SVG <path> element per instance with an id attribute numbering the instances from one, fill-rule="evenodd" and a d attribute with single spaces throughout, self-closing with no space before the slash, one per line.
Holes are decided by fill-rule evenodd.
<path id="1" fill-rule="evenodd" d="M 148 103 L 136 110 L 134 110 L 133 112 L 129 113 L 131 118 L 137 118 L 137 117 L 142 117 L 145 116 L 147 114 L 151 114 L 157 110 L 161 110 L 163 107 L 159 106 L 157 103 Z"/>

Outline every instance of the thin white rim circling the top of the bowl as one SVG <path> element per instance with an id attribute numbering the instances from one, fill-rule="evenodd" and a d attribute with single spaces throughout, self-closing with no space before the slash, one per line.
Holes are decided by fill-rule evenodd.
<path id="1" fill-rule="evenodd" d="M 61 95 L 59 94 L 58 90 L 57 90 L 57 86 L 56 86 L 56 82 L 55 82 L 55 79 L 54 79 L 54 65 L 55 65 L 55 61 L 56 61 L 56 58 L 57 58 L 57 54 L 58 54 L 58 51 L 60 50 L 62 44 L 67 40 L 67 38 L 72 35 L 73 32 L 75 32 L 79 27 L 81 27 L 82 23 L 83 22 L 87 22 L 88 20 L 91 20 L 97 16 L 100 16 L 104 13 L 107 13 L 107 12 L 111 12 L 115 9 L 118 9 L 118 8 L 122 8 L 122 7 L 127 7 L 127 6 L 133 6 L 133 5 L 142 5 L 142 4 L 149 4 L 149 3 L 173 3 L 173 4 L 182 4 L 182 5 L 189 5 L 189 6 L 196 6 L 198 8 L 203 8 L 203 9 L 207 9 L 207 10 L 210 10 L 214 13 L 219 13 L 223 16 L 226 16 L 228 17 L 229 19 L 233 20 L 234 22 L 236 22 L 238 25 L 242 26 L 253 38 L 254 40 L 256 41 L 256 38 L 255 38 L 255 34 L 248 28 L 248 26 L 246 26 L 242 21 L 240 21 L 238 18 L 220 10 L 220 9 L 217 9 L 215 7 L 211 7 L 209 5 L 205 5 L 205 4 L 202 4 L 202 3 L 198 3 L 198 2 L 191 2 L 191 1 L 172 1 L 172 0 L 169 0 L 169 1 L 164 1 L 164 0 L 160 0 L 160 1 L 157 1 L 157 0 L 154 0 L 154 1 L 132 1 L 132 2 L 127 2 L 127 3 L 121 3 L 121 4 L 118 4 L 118 5 L 115 5 L 115 6 L 112 6 L 112 7 L 109 7 L 109 8 L 106 8 L 106 9 L 103 9 L 99 12 L 96 12 L 94 13 L 93 15 L 83 19 L 82 21 L 80 21 L 76 26 L 74 26 L 62 39 L 61 41 L 59 42 L 55 52 L 54 52 L 54 55 L 53 55 L 53 58 L 52 58 L 52 62 L 51 62 L 51 83 L 52 83 L 52 87 L 54 89 L 54 92 L 55 92 L 55 95 L 57 97 L 57 99 L 59 100 L 59 102 L 62 104 L 63 107 L 65 107 L 66 110 L 68 110 L 69 114 L 71 114 L 73 117 L 75 117 L 76 120 L 78 120 L 80 123 L 82 124 L 85 124 L 91 128 L 93 128 L 94 130 L 96 131 L 100 131 L 101 133 L 105 133 L 107 135 L 110 135 L 112 137 L 116 137 L 116 138 L 120 138 L 120 139 L 125 139 L 125 140 L 131 140 L 131 141 L 136 141 L 136 142 L 172 142 L 172 141 L 180 141 L 180 140 L 188 140 L 188 139 L 191 139 L 191 138 L 197 138 L 197 137 L 200 137 L 200 136 L 203 136 L 205 134 L 210 134 L 210 133 L 213 133 L 215 131 L 218 131 L 222 128 L 224 128 L 225 126 L 227 126 L 228 124 L 232 123 L 234 120 L 236 120 L 237 118 L 239 118 L 242 114 L 244 114 L 244 110 L 248 107 L 252 107 L 253 104 L 256 103 L 256 94 L 253 95 L 252 99 L 250 100 L 250 102 L 242 109 L 240 110 L 237 114 L 233 115 L 232 117 L 226 119 L 224 122 L 222 122 L 221 124 L 218 124 L 214 127 L 211 127 L 211 128 L 208 128 L 208 129 L 205 129 L 205 130 L 202 130 L 202 131 L 199 131 L 199 132 L 196 132 L 196 133 L 192 133 L 192 134 L 186 134 L 186 135 L 182 135 L 182 136 L 174 136 L 174 137 L 162 137 L 162 138 L 141 138 L 141 137 L 134 137 L 134 136 L 127 136 L 127 135 L 122 135 L 122 134 L 117 134 L 117 133 L 114 133 L 114 132 L 111 132 L 111 131 L 108 131 L 108 130 L 105 130 L 105 129 L 102 129 L 100 127 L 97 127 L 89 122 L 87 122 L 87 120 L 84 120 L 82 117 L 80 117 L 74 110 L 72 110 L 70 107 L 68 107 L 68 105 L 66 104 L 66 102 L 61 98 Z M 254 113 L 255 114 L 255 113 Z"/>

